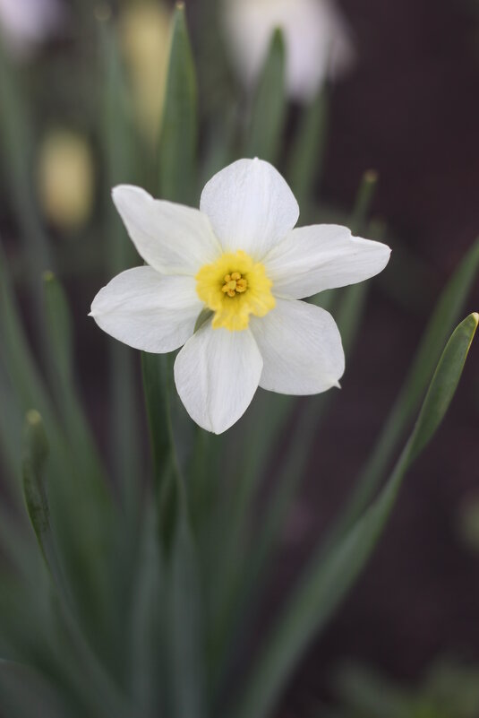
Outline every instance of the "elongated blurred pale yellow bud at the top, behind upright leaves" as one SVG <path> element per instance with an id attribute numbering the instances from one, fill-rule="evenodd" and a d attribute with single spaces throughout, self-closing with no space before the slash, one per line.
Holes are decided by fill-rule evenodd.
<path id="1" fill-rule="evenodd" d="M 150 143 L 158 137 L 172 15 L 164 4 L 129 4 L 120 18 L 120 38 L 130 76 L 135 114 Z"/>

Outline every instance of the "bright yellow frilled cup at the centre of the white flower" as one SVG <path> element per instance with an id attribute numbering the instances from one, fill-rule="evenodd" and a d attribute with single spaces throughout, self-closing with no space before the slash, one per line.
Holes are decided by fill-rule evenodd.
<path id="1" fill-rule="evenodd" d="M 214 312 L 213 329 L 231 332 L 246 329 L 251 315 L 265 316 L 275 307 L 271 287 L 264 265 L 242 250 L 221 255 L 196 275 L 197 294 Z"/>

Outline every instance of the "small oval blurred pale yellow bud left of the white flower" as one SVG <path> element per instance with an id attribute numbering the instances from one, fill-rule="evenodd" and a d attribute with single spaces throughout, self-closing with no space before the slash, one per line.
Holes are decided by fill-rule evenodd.
<path id="1" fill-rule="evenodd" d="M 38 195 L 59 229 L 75 229 L 88 219 L 94 169 L 90 145 L 80 134 L 57 130 L 47 135 L 38 157 Z"/>

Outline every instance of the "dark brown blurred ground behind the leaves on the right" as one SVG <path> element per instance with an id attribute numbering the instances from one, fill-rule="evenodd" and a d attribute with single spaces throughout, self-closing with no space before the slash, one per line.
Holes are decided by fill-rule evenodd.
<path id="1" fill-rule="evenodd" d="M 373 211 L 431 275 L 410 306 L 378 288 L 370 296 L 340 400 L 321 425 L 278 595 L 304 542 L 346 497 L 406 375 L 437 289 L 479 234 L 479 4 L 340 4 L 358 62 L 331 91 L 321 197 L 350 206 L 364 170 L 377 169 Z M 394 249 L 394 239 L 390 244 Z M 408 282 L 405 275 L 405 293 Z M 464 316 L 478 306 L 476 284 Z M 304 658 L 281 718 L 304 715 L 328 696 L 335 665 L 346 659 L 407 680 L 419 679 L 444 653 L 479 660 L 479 553 L 459 530 L 461 506 L 479 492 L 478 358 L 475 347 L 444 426 L 408 475 L 355 590 Z"/>

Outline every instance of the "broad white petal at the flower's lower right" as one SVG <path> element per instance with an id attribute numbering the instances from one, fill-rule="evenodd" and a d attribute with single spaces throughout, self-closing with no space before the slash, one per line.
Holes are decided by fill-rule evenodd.
<path id="1" fill-rule="evenodd" d="M 278 394 L 319 394 L 338 386 L 345 357 L 338 326 L 324 309 L 278 299 L 251 330 L 261 351 L 260 386 Z"/>

